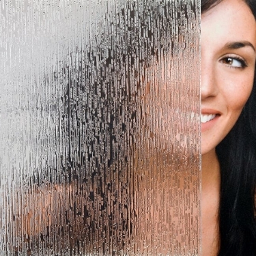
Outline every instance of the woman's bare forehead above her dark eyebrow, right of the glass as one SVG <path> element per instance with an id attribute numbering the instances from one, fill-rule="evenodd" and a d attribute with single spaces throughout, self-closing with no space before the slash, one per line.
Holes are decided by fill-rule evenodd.
<path id="1" fill-rule="evenodd" d="M 203 42 L 248 41 L 256 48 L 256 21 L 242 0 L 223 0 L 201 16 Z"/>

